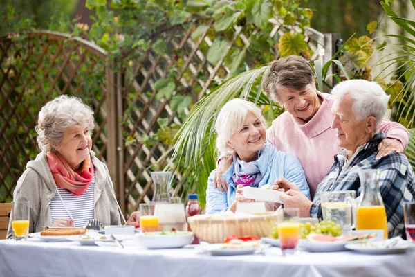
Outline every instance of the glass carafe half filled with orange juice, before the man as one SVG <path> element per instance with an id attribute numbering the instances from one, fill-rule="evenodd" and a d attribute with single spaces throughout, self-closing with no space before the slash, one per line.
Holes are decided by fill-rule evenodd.
<path id="1" fill-rule="evenodd" d="M 360 202 L 356 213 L 356 230 L 381 229 L 387 239 L 387 216 L 379 190 L 380 170 L 359 170 Z"/>

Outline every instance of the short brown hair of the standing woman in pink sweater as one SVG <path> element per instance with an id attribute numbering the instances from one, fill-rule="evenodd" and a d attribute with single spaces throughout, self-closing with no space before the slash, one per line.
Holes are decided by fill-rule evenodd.
<path id="1" fill-rule="evenodd" d="M 278 89 L 304 89 L 314 84 L 314 72 L 304 57 L 289 56 L 273 60 L 264 75 L 264 90 L 268 96 L 279 101 Z"/>

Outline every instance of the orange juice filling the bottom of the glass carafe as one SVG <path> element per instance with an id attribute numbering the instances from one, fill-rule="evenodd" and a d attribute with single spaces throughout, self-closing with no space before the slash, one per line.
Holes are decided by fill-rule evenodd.
<path id="1" fill-rule="evenodd" d="M 385 206 L 360 206 L 356 215 L 356 230 L 381 229 L 387 239 Z"/>

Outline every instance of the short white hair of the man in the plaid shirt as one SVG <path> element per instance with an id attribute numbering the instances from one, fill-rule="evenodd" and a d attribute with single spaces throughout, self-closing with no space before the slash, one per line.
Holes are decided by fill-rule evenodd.
<path id="1" fill-rule="evenodd" d="M 347 80 L 337 84 L 331 94 L 335 96 L 333 108 L 338 106 L 340 98 L 345 94 L 355 101 L 353 102 L 353 112 L 357 120 L 363 120 L 369 116 L 376 118 L 376 130 L 380 126 L 382 118 L 387 111 L 389 97 L 376 82 L 367 80 Z"/>

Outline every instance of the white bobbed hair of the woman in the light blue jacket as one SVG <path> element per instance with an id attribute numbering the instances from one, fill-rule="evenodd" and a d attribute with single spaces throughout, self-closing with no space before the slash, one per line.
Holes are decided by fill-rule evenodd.
<path id="1" fill-rule="evenodd" d="M 261 123 L 265 125 L 261 109 L 247 100 L 232 99 L 219 111 L 214 129 L 217 133 L 216 149 L 219 150 L 221 155 L 229 157 L 233 154 L 234 150 L 228 146 L 228 141 L 233 134 L 240 131 L 248 111 L 252 111 L 261 120 Z"/>

